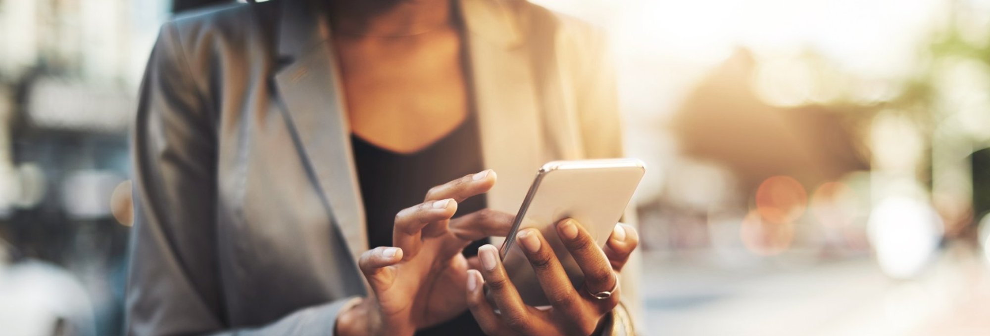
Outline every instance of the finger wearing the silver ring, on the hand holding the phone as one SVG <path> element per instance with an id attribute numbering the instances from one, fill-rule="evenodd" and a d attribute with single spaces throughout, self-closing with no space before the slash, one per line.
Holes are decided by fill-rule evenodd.
<path id="1" fill-rule="evenodd" d="M 571 218 L 560 220 L 556 226 L 560 241 L 567 247 L 577 266 L 584 273 L 584 286 L 587 290 L 591 293 L 599 293 L 616 289 L 618 279 L 612 271 L 612 265 L 588 231 L 581 227 L 577 220 Z"/>

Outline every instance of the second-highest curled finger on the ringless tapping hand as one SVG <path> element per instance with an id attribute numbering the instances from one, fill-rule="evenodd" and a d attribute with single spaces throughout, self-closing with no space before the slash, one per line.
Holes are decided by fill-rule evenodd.
<path id="1" fill-rule="evenodd" d="M 420 252 L 423 228 L 430 223 L 446 225 L 446 220 L 456 211 L 457 203 L 450 199 L 425 202 L 400 210 L 395 215 L 395 226 L 392 228 L 392 245 L 405 250 L 406 259 L 415 257 Z"/>

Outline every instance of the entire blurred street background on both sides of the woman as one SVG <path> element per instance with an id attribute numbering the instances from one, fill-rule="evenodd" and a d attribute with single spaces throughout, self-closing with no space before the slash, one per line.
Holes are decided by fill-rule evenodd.
<path id="1" fill-rule="evenodd" d="M 0 334 L 120 333 L 148 52 L 224 2 L 0 0 Z M 536 2 L 612 37 L 647 335 L 990 334 L 990 0 Z"/>

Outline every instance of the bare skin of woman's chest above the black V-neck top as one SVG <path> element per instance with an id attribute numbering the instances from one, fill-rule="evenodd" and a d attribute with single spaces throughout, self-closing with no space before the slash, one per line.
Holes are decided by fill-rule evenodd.
<path id="1" fill-rule="evenodd" d="M 351 132 L 413 152 L 444 137 L 469 111 L 456 32 L 393 39 L 336 39 Z"/>

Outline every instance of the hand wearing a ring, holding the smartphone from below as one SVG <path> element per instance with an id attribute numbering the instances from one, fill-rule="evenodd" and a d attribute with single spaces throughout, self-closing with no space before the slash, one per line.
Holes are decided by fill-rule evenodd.
<path id="1" fill-rule="evenodd" d="M 481 268 L 467 271 L 467 306 L 486 334 L 587 336 L 619 304 L 619 272 L 640 241 L 636 230 L 630 225 L 616 224 L 604 248 L 599 248 L 573 219 L 558 222 L 556 231 L 584 273 L 585 282 L 579 288 L 571 285 L 539 230 L 528 228 L 516 235 L 551 302 L 552 307 L 546 310 L 523 302 L 494 246 L 478 249 Z M 485 299 L 484 285 L 488 286 L 499 314 Z M 602 297 L 609 292 L 607 297 Z"/>

